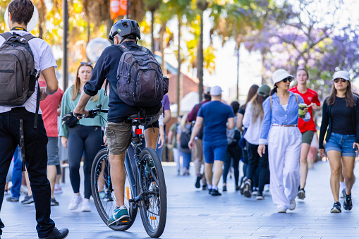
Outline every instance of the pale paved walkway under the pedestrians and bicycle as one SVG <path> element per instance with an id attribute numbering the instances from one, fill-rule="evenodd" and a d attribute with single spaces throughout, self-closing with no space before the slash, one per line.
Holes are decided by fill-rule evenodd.
<path id="1" fill-rule="evenodd" d="M 297 200 L 297 208 L 287 214 L 276 213 L 269 192 L 262 201 L 234 192 L 233 179 L 228 180 L 228 192 L 221 197 L 196 190 L 193 169 L 191 176 L 176 176 L 174 166 L 164 166 L 168 212 L 162 238 L 359 238 L 358 184 L 353 188 L 352 211 L 330 214 L 333 199 L 327 162 L 318 162 L 310 170 L 307 197 Z M 355 168 L 357 175 L 358 170 Z M 70 230 L 68 238 L 148 238 L 139 214 L 128 231 L 116 232 L 102 222 L 92 200 L 92 212 L 69 212 L 72 190 L 68 178 L 62 187 L 63 194 L 56 195 L 60 206 L 51 207 L 51 218 L 56 227 Z M 4 200 L 0 215 L 6 226 L 1 238 L 37 238 L 33 205 Z"/>

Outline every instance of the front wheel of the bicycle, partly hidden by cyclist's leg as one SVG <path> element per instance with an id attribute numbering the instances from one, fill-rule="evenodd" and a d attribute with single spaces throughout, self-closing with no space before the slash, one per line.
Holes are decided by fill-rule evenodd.
<path id="1" fill-rule="evenodd" d="M 109 176 L 108 175 L 109 173 L 107 173 L 109 172 L 108 167 L 109 167 L 109 160 L 108 160 L 107 148 L 104 148 L 101 149 L 96 154 L 96 157 L 92 163 L 91 190 L 92 190 L 92 197 L 94 199 L 97 212 L 99 213 L 99 216 L 101 217 L 102 221 L 104 221 L 106 225 L 107 225 L 107 220 L 109 219 L 111 214 L 114 212 L 114 209 L 116 208 L 116 198 L 114 195 L 114 190 L 111 189 L 111 186 L 109 187 L 109 185 L 111 185 L 111 176 Z M 104 169 L 103 176 L 101 175 L 102 168 Z M 133 208 L 133 203 L 131 204 L 128 203 L 128 199 L 129 199 L 128 196 L 130 198 L 133 198 L 133 192 L 130 187 L 132 183 L 130 182 L 126 168 L 125 171 L 126 171 L 125 205 L 128 208 L 128 213 L 130 215 L 130 222 L 127 225 L 122 225 L 122 226 L 119 225 L 109 226 L 109 228 L 111 228 L 114 231 L 126 231 L 128 228 L 130 228 L 133 225 L 133 222 L 135 221 L 138 211 L 137 207 L 135 209 Z M 99 182 L 99 180 L 102 180 L 102 182 L 104 183 Z M 99 191 L 99 187 L 103 187 L 103 190 Z"/>

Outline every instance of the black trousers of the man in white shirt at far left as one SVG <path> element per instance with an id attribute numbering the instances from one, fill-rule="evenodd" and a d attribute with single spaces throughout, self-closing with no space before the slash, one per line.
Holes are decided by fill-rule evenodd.
<path id="1" fill-rule="evenodd" d="M 51 189 L 46 173 L 47 134 L 42 116 L 39 115 L 37 128 L 35 129 L 35 114 L 26 111 L 24 107 L 0 113 L 0 209 L 4 200 L 4 187 L 8 167 L 16 147 L 20 145 L 20 119 L 23 119 L 24 124 L 25 164 L 28 169 L 35 202 L 36 230 L 39 238 L 44 238 L 55 227 L 54 221 L 50 219 Z M 21 217 L 21 210 L 17 216 Z M 2 234 L 1 228 L 4 228 L 4 223 L 0 220 L 0 235 Z"/>

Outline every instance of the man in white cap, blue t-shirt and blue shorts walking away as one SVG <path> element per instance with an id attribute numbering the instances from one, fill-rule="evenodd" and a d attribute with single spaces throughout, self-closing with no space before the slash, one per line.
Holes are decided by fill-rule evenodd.
<path id="1" fill-rule="evenodd" d="M 212 87 L 210 94 L 212 101 L 203 104 L 200 111 L 198 111 L 188 147 L 193 149 L 195 146 L 195 137 L 200 132 L 202 123 L 204 123 L 203 153 L 205 154 L 207 186 L 210 195 L 220 196 L 221 193 L 218 192 L 218 183 L 223 172 L 222 166 L 228 146 L 226 129 L 234 128 L 234 114 L 231 106 L 221 102 L 221 87 L 218 85 Z"/>

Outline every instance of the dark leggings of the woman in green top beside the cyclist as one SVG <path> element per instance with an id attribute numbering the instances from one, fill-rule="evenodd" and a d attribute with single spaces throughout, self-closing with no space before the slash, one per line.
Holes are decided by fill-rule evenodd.
<path id="1" fill-rule="evenodd" d="M 68 130 L 68 166 L 74 193 L 80 192 L 80 163 L 83 157 L 84 197 L 91 197 L 91 167 L 96 154 L 101 149 L 102 132 L 100 126 L 75 125 Z"/>

